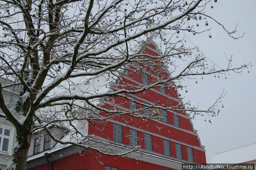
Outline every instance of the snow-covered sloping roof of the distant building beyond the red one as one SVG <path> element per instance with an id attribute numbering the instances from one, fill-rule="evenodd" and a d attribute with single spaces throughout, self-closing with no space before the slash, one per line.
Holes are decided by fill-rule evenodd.
<path id="1" fill-rule="evenodd" d="M 256 143 L 215 154 L 208 163 L 245 163 L 256 160 Z"/>

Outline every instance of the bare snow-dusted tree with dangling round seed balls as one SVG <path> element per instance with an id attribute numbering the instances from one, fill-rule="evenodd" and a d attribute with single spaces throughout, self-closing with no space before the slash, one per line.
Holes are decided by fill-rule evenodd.
<path id="1" fill-rule="evenodd" d="M 218 68 L 210 61 L 207 63 L 198 48 L 185 43 L 185 34 L 210 30 L 207 20 L 214 19 L 204 10 L 214 2 L 217 0 L 1 0 L 0 76 L 14 83 L 0 84 L 3 111 L 0 117 L 17 129 L 16 145 L 7 169 L 25 169 L 31 135 L 36 130 L 45 129 L 52 139 L 64 143 L 54 138 L 49 125 L 65 121 L 72 124 L 71 121 L 77 119 L 101 122 L 123 114 L 139 117 L 129 110 L 104 109 L 94 101 L 106 97 L 129 99 L 129 94 L 143 93 L 149 88 L 164 86 L 164 83 L 173 84 L 168 88 L 182 88 L 178 84 L 185 78 L 241 72 L 246 68 L 247 64 L 231 67 L 231 58 L 227 59 L 226 68 Z M 236 29 L 227 33 L 239 38 L 233 36 Z M 143 52 L 151 40 L 161 47 L 159 56 Z M 144 71 L 154 72 L 162 79 L 143 86 L 122 79 L 127 74 L 136 76 Z M 72 88 L 91 76 L 103 76 L 106 82 L 119 80 L 119 90 L 72 92 Z M 20 86 L 22 90 L 20 99 L 8 105 L 2 90 L 11 86 Z M 219 100 L 205 110 L 180 107 L 180 103 L 176 106 L 157 104 L 154 106 L 193 116 L 218 112 Z M 62 112 L 56 109 L 59 106 L 64 108 Z M 148 108 L 137 109 L 134 113 Z M 78 109 L 95 113 L 98 118 L 74 114 Z M 45 110 L 51 110 L 51 114 L 45 116 Z M 99 116 L 97 110 L 113 114 Z M 155 118 L 154 114 L 148 117 Z M 72 144 L 90 149 L 79 143 Z"/>

